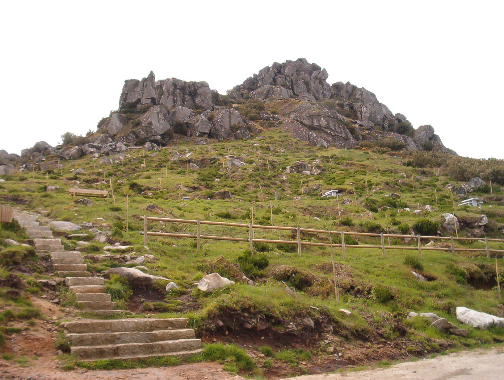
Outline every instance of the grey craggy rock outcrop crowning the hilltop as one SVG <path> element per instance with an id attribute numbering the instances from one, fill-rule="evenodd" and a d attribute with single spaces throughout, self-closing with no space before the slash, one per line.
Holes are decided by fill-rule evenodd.
<path id="1" fill-rule="evenodd" d="M 406 117 L 393 114 L 376 96 L 350 83 L 327 82 L 328 73 L 304 58 L 273 63 L 219 95 L 206 82 L 175 78 L 156 81 L 151 71 L 142 80 L 124 82 L 117 111 L 103 118 L 97 131 L 77 137 L 71 132 L 61 145 L 45 141 L 21 156 L 0 150 L 0 173 L 48 155 L 77 159 L 85 155 L 115 156 L 129 145 L 164 146 L 170 140 L 200 137 L 249 139 L 264 127 L 278 127 L 318 146 L 393 150 L 437 150 L 445 147 L 430 125 L 414 129 Z M 30 165 L 30 164 L 29 164 Z"/>

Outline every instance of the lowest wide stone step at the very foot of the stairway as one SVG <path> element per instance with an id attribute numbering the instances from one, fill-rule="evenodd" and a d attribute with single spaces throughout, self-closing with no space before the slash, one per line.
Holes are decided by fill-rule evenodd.
<path id="1" fill-rule="evenodd" d="M 152 343 L 125 343 L 106 346 L 74 346 L 72 354 L 83 360 L 96 360 L 110 357 L 159 355 L 170 352 L 194 351 L 201 348 L 200 339 L 178 339 Z"/>

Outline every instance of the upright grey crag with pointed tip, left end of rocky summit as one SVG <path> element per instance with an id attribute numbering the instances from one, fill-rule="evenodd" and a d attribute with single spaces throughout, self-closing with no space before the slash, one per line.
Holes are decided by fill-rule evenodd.
<path id="1" fill-rule="evenodd" d="M 143 104 L 157 104 L 156 77 L 151 71 L 147 78 L 141 81 L 130 79 L 124 81 L 119 109 L 137 107 Z"/>

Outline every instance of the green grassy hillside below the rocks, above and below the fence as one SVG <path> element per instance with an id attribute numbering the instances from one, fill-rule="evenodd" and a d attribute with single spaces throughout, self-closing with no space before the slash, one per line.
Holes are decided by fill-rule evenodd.
<path id="1" fill-rule="evenodd" d="M 125 214 L 125 194 L 130 194 L 130 232 L 115 232 L 118 241 L 123 244 L 135 245 L 137 254 L 148 253 L 142 247 L 142 221 L 140 215 L 148 214 L 156 216 L 145 210 L 148 204 L 154 203 L 163 207 L 167 214 L 172 217 L 187 219 L 219 219 L 215 214 L 222 211 L 230 212 L 233 221 L 248 222 L 250 206 L 255 209 L 256 223 L 269 224 L 269 201 L 273 201 L 275 209 L 274 222 L 276 225 L 303 226 L 317 229 L 327 229 L 332 223 L 336 229 L 365 231 L 358 227 L 359 222 L 371 220 L 371 213 L 364 207 L 366 196 L 365 181 L 367 178 L 369 198 L 375 200 L 378 205 L 386 202 L 386 194 L 396 192 L 401 195 L 400 201 L 414 210 L 417 203 L 430 204 L 436 211 L 427 217 L 433 220 L 440 220 L 439 215 L 444 212 L 453 212 L 452 200 L 449 191 L 445 188 L 449 179 L 441 176 L 434 176 L 434 170 L 421 170 L 409 168 L 401 165 L 401 159 L 390 156 L 382 156 L 364 151 L 344 149 L 323 149 L 308 145 L 304 142 L 291 138 L 279 129 L 264 130 L 262 136 L 256 137 L 252 141 L 216 142 L 210 141 L 210 145 L 195 145 L 194 141 L 184 142 L 179 140 L 178 145 L 172 144 L 163 148 L 155 157 L 146 154 L 146 173 L 142 167 L 143 158 L 141 150 L 127 151 L 127 157 L 121 163 L 113 166 L 98 165 L 96 169 L 90 157 L 80 160 L 65 162 L 63 175 L 55 173 L 49 175 L 48 183 L 60 187 L 56 193 L 43 192 L 46 185 L 45 173 L 35 173 L 35 183 L 32 181 L 32 173 L 21 173 L 12 176 L 5 176 L 7 182 L 0 184 L 0 196 L 18 195 L 28 199 L 28 208 L 34 210 L 47 210 L 50 218 L 57 220 L 70 220 L 76 223 L 85 221 L 97 222 L 96 218 L 105 218 L 105 224 L 111 229 L 120 229 L 121 221 Z M 270 149 L 271 147 L 271 149 Z M 283 149 L 281 151 L 280 149 Z M 186 171 L 185 160 L 174 161 L 172 152 L 177 150 L 184 154 L 185 151 L 192 151 L 193 155 L 189 162 L 195 162 L 200 166 L 199 171 Z M 246 166 L 232 168 L 230 171 L 222 171 L 222 163 L 227 155 L 242 156 L 248 163 Z M 331 157 L 331 160 L 329 159 Z M 347 161 L 348 157 L 348 161 Z M 271 173 L 268 172 L 267 161 L 270 165 Z M 319 160 L 319 161 L 316 161 Z M 301 193 L 300 175 L 284 174 L 286 166 L 293 166 L 296 161 L 306 161 L 322 170 L 318 176 L 302 177 L 305 195 L 300 200 L 292 200 L 294 196 Z M 332 161 L 332 165 L 331 165 Z M 256 165 L 253 165 L 253 164 Z M 73 178 L 71 169 L 83 168 L 86 173 Z M 406 174 L 406 178 L 401 175 Z M 113 176 L 114 191 L 117 200 L 117 208 L 111 208 L 111 200 L 107 204 L 103 200 L 91 198 L 94 206 L 74 204 L 67 193 L 71 180 L 81 181 L 80 187 L 97 188 L 91 185 L 96 182 L 96 177 L 108 178 Z M 282 179 L 285 175 L 286 179 Z M 415 189 L 411 186 L 411 176 L 415 178 Z M 159 178 L 163 191 L 159 191 Z M 219 178 L 215 181 L 214 178 Z M 203 179 L 203 181 L 201 180 Z M 119 180 L 123 183 L 119 183 Z M 403 184 L 398 181 L 402 180 Z M 135 186 L 130 186 L 134 181 L 145 189 L 153 192 L 153 197 L 141 196 Z M 89 184 L 83 184 L 88 182 Z M 453 181 L 451 181 L 453 183 Z M 192 200 L 181 202 L 182 195 L 187 195 L 187 191 L 180 191 L 178 184 L 191 191 Z M 263 197 L 261 197 L 262 186 Z M 102 188 L 108 185 L 102 185 Z M 338 208 L 336 199 L 323 200 L 318 194 L 322 190 L 340 188 L 352 192 L 354 188 L 357 196 L 357 204 L 353 202 L 353 195 L 348 194 L 343 198 L 352 200 L 349 204 L 341 204 L 341 216 L 349 215 L 355 221 L 354 227 L 341 226 L 338 224 Z M 133 190 L 132 190 L 133 188 Z M 138 188 L 138 186 L 137 186 Z M 238 200 L 207 200 L 207 196 L 220 189 L 229 189 Z M 434 196 L 434 189 L 437 189 L 438 204 Z M 282 199 L 275 201 L 274 191 L 281 191 Z M 495 192 L 494 192 L 495 194 Z M 404 205 L 403 205 L 404 206 Z M 477 217 L 489 205 L 483 209 L 457 209 L 457 214 L 461 217 Z M 504 214 L 504 207 L 492 204 L 493 214 Z M 288 212 L 287 212 L 288 211 Z M 321 220 L 317 220 L 318 217 Z M 373 212 L 376 222 L 385 226 L 385 212 Z M 397 209 L 392 209 L 389 213 L 389 221 L 394 219 L 400 222 L 407 222 L 412 225 L 421 216 L 412 213 L 397 213 Z M 100 222 L 100 221 L 98 221 Z M 114 227 L 115 223 L 115 227 Z M 396 222 L 397 223 L 397 222 Z M 162 223 L 152 223 L 151 231 L 195 233 L 195 225 L 170 225 Z M 391 225 L 391 232 L 397 231 L 397 227 Z M 202 226 L 202 234 L 221 236 L 243 236 L 248 237 L 248 232 L 243 229 L 237 232 L 231 227 Z M 461 235 L 464 235 L 462 232 Z M 256 231 L 256 237 L 289 239 L 285 232 Z M 376 240 L 360 239 L 361 243 L 373 242 Z M 69 248 L 73 247 L 72 241 L 66 241 Z M 394 244 L 394 242 L 392 242 Z M 396 242 L 397 243 L 397 242 Z M 414 243 L 411 243 L 414 244 Z M 94 244 L 95 251 L 104 245 Z M 462 246 L 459 246 L 462 247 Z M 474 247 L 484 248 L 484 244 L 475 243 Z M 491 247 L 504 248 L 502 244 L 491 244 Z M 193 283 L 199 280 L 205 273 L 202 271 L 206 262 L 223 255 L 230 262 L 236 262 L 237 257 L 243 250 L 248 248 L 247 243 L 231 243 L 206 241 L 200 253 L 194 249 L 194 244 L 190 240 L 152 238 L 149 237 L 150 252 L 156 256 L 155 263 L 147 264 L 149 273 L 159 274 L 173 279 L 182 290 L 191 290 Z M 414 251 L 413 251 L 414 252 Z M 99 251 L 96 253 L 100 253 Z M 267 253 L 270 260 L 270 267 L 275 268 L 280 265 L 295 267 L 298 270 L 309 272 L 325 280 L 322 289 L 310 288 L 305 292 L 286 289 L 281 282 L 269 279 L 257 282 L 255 285 L 245 285 L 237 283 L 230 289 L 216 292 L 211 296 L 201 296 L 194 293 L 199 299 L 200 308 L 197 311 L 186 313 L 194 319 L 195 323 L 205 320 L 208 316 L 218 314 L 223 307 L 236 309 L 258 310 L 264 314 L 270 314 L 288 320 L 292 315 L 317 317 L 319 314 L 330 316 L 334 323 L 341 327 L 341 331 L 355 331 L 365 334 L 366 331 L 380 330 L 385 339 L 398 336 L 397 330 L 388 323 L 387 318 L 402 320 L 409 311 L 434 312 L 446 317 L 451 322 L 457 323 L 454 317 L 454 308 L 466 306 L 481 310 L 487 313 L 501 315 L 498 308 L 500 303 L 495 290 L 476 290 L 469 285 L 459 284 L 455 281 L 454 275 L 448 273 L 447 265 L 455 263 L 460 267 L 469 268 L 474 273 L 483 270 L 490 271 L 494 261 L 488 261 L 484 254 L 469 254 L 465 252 L 457 253 L 452 259 L 451 254 L 424 251 L 423 265 L 424 272 L 437 277 L 436 281 L 417 282 L 410 273 L 410 268 L 403 264 L 407 251 L 387 252 L 385 259 L 381 257 L 380 250 L 349 249 L 347 259 L 342 260 L 340 250 L 336 250 L 336 261 L 338 263 L 340 281 L 342 285 L 351 284 L 363 289 L 376 288 L 379 285 L 390 287 L 394 294 L 394 299 L 380 303 L 373 297 L 373 292 L 365 295 L 351 295 L 345 293 L 341 297 L 340 303 L 335 301 L 331 286 L 327 286 L 328 280 L 332 279 L 330 267 L 331 250 L 329 248 L 303 248 L 303 256 L 299 258 L 297 253 L 288 253 L 278 247 L 272 247 Z M 110 263 L 103 262 L 93 264 L 96 270 L 105 270 Z M 504 265 L 504 260 L 499 259 L 499 265 Z M 486 269 L 488 268 L 488 269 Z M 292 287 L 291 287 L 292 288 Z M 177 312 L 176 296 L 168 296 L 167 301 L 172 306 L 173 312 Z M 309 308 L 317 307 L 319 310 Z M 340 308 L 350 309 L 354 315 L 350 318 L 344 317 L 338 312 Z M 170 314 L 173 315 L 173 314 Z M 504 336 L 502 331 L 475 331 L 470 330 L 468 338 L 458 338 L 439 334 L 428 325 L 415 322 L 408 323 L 410 329 L 417 332 L 426 333 L 431 338 L 443 338 L 453 341 L 455 345 L 460 342 L 464 345 L 478 345 L 482 342 L 491 343 L 492 337 Z M 459 324 L 460 325 L 460 324 Z M 356 333 L 355 336 L 358 334 Z M 352 336 L 350 335 L 350 339 Z M 413 337 L 414 340 L 423 339 L 420 336 Z"/>

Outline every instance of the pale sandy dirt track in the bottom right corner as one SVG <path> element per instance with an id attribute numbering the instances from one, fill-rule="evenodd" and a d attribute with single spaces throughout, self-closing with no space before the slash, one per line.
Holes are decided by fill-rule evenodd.
<path id="1" fill-rule="evenodd" d="M 489 380 L 504 379 L 504 350 L 475 350 L 361 372 L 308 375 L 295 380 Z M 288 380 L 288 379 L 287 379 Z"/>

